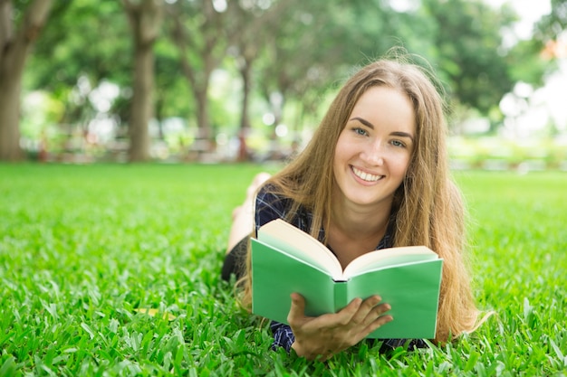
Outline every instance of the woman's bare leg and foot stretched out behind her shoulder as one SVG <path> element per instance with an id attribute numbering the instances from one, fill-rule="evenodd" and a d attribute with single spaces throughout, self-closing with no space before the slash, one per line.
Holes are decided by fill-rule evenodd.
<path id="1" fill-rule="evenodd" d="M 270 178 L 270 174 L 256 174 L 252 183 L 246 189 L 246 197 L 244 203 L 239 205 L 232 212 L 232 226 L 228 235 L 228 246 L 226 253 L 232 250 L 236 243 L 244 239 L 254 227 L 254 201 L 256 191 Z"/>

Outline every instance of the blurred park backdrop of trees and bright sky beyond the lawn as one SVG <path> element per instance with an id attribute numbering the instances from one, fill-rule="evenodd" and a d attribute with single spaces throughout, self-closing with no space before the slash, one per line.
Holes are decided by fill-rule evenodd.
<path id="1" fill-rule="evenodd" d="M 565 2 L 3 1 L 0 160 L 290 156 L 392 47 L 446 91 L 456 167 L 566 169 Z"/>

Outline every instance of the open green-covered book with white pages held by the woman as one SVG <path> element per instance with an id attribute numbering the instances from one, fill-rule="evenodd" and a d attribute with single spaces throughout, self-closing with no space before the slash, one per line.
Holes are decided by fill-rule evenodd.
<path id="1" fill-rule="evenodd" d="M 356 297 L 389 303 L 394 320 L 370 338 L 433 338 L 443 259 L 425 246 L 373 250 L 343 270 L 331 250 L 283 221 L 270 221 L 252 239 L 252 311 L 287 324 L 293 292 L 305 315 L 336 313 Z"/>

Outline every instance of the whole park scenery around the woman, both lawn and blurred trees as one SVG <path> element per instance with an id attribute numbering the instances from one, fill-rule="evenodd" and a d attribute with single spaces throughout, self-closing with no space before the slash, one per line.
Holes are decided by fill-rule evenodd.
<path id="1" fill-rule="evenodd" d="M 564 0 L 0 0 L 0 377 L 565 375 L 566 15 Z M 443 82 L 474 292 L 495 315 L 419 352 L 271 352 L 219 278 L 230 213 L 393 46 Z"/>

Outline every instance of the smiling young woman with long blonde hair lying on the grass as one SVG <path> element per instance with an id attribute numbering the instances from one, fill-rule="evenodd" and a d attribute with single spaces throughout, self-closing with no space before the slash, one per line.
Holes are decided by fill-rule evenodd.
<path id="1" fill-rule="evenodd" d="M 342 87 L 303 152 L 273 177 L 256 176 L 245 204 L 233 213 L 223 278 L 232 272 L 242 278 L 249 305 L 248 235 L 276 218 L 321 240 L 343 268 L 366 250 L 426 245 L 445 259 L 434 341 L 473 330 L 479 312 L 445 134 L 443 100 L 425 71 L 390 60 L 362 68 Z M 392 320 L 380 297 L 355 299 L 318 317 L 304 316 L 303 308 L 303 297 L 294 294 L 290 325 L 272 323 L 272 329 L 274 347 L 308 359 L 327 359 Z M 404 343 L 385 340 L 394 347 Z"/>

